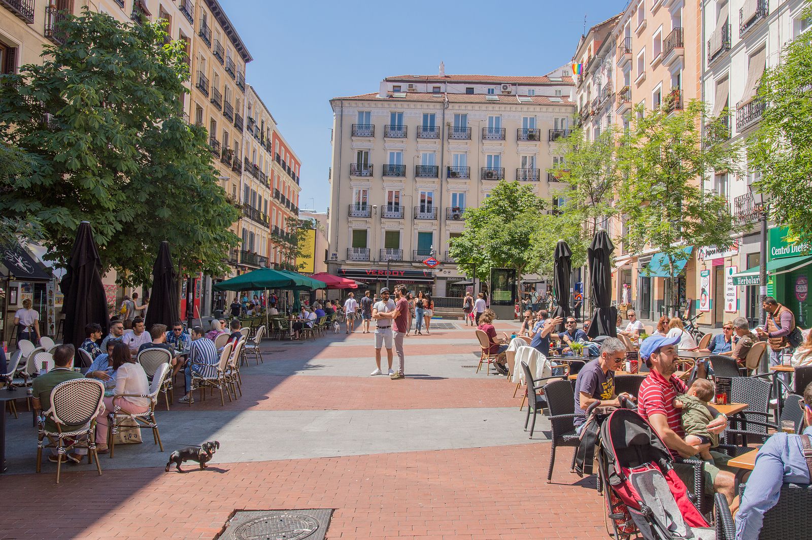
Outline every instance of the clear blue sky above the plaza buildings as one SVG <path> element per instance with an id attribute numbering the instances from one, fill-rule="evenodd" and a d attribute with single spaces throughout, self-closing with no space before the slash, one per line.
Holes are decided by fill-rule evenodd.
<path id="1" fill-rule="evenodd" d="M 625 0 L 279 2 L 220 0 L 254 60 L 248 83 L 302 160 L 300 208 L 326 210 L 331 97 L 378 92 L 386 76 L 542 75 Z"/>

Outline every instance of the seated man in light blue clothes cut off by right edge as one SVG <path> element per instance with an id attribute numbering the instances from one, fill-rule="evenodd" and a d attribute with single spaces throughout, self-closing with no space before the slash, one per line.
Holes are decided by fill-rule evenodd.
<path id="1" fill-rule="evenodd" d="M 778 503 L 781 484 L 812 482 L 802 440 L 806 438 L 812 443 L 812 383 L 804 389 L 800 404 L 807 426 L 803 434 L 773 434 L 756 455 L 755 468 L 747 479 L 747 489 L 736 514 L 736 540 L 758 540 L 764 513 Z"/>

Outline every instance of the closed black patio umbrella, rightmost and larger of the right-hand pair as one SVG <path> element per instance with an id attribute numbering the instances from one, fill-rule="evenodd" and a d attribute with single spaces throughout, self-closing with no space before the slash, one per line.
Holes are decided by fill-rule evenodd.
<path id="1" fill-rule="evenodd" d="M 609 257 L 615 251 L 615 244 L 607 231 L 598 231 L 587 250 L 590 263 L 590 283 L 595 310 L 587 335 L 594 338 L 598 335 L 617 337 L 617 308 L 611 305 L 611 266 Z"/>

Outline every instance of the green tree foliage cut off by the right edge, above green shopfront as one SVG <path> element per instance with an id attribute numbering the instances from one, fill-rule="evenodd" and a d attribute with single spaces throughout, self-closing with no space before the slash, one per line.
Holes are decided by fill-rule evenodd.
<path id="1" fill-rule="evenodd" d="M 804 16 L 812 19 L 812 5 Z M 812 242 L 812 39 L 804 32 L 762 76 L 756 98 L 767 107 L 748 141 L 749 167 L 771 197 L 771 218 L 789 235 Z"/>

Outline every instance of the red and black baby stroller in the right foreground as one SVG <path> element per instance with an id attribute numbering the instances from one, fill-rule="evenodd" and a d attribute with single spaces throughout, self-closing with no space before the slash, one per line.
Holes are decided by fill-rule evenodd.
<path id="1" fill-rule="evenodd" d="M 615 538 L 713 540 L 711 529 L 688 497 L 673 459 L 649 423 L 631 408 L 587 411 L 576 471 L 592 472 L 588 447 L 596 448 L 598 477 Z M 633 405 L 631 405 L 633 407 Z M 583 450 L 582 450 L 583 447 Z"/>

